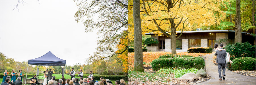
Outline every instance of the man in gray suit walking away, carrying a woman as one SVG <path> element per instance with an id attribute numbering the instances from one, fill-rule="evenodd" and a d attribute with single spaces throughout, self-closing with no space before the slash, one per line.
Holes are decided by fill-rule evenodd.
<path id="1" fill-rule="evenodd" d="M 221 43 L 220 44 L 220 49 L 223 49 L 223 44 Z M 221 67 L 222 67 L 222 77 L 223 77 L 223 80 L 225 80 L 225 77 L 224 76 L 226 76 L 226 74 L 225 74 L 225 71 L 226 71 L 226 68 L 225 68 L 225 63 L 226 63 L 226 56 L 227 56 L 227 52 L 226 52 L 226 50 L 221 50 L 221 51 L 219 51 L 219 50 L 216 50 L 216 53 L 214 54 L 215 56 L 217 56 L 217 60 L 216 60 L 216 62 L 218 63 L 218 72 L 219 72 L 219 77 L 220 77 L 220 79 L 219 80 L 221 80 Z"/>

